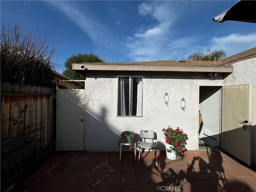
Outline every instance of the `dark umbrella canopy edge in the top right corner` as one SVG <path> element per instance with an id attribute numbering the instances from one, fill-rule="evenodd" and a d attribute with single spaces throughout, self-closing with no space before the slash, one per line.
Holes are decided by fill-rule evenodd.
<path id="1" fill-rule="evenodd" d="M 240 0 L 222 14 L 212 18 L 215 22 L 242 21 L 256 23 L 256 0 Z"/>

